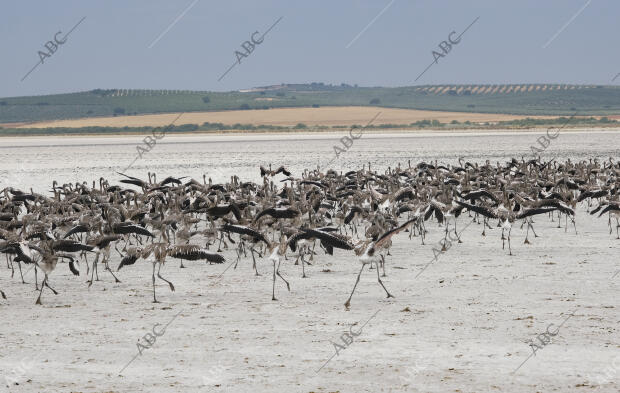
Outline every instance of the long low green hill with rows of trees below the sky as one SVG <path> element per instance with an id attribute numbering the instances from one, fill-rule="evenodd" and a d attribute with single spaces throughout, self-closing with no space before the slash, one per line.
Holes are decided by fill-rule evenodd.
<path id="1" fill-rule="evenodd" d="M 439 85 L 357 87 L 287 84 L 232 92 L 96 89 L 0 98 L 0 123 L 238 109 L 383 106 L 516 115 L 618 115 L 620 87 L 595 85 Z"/>

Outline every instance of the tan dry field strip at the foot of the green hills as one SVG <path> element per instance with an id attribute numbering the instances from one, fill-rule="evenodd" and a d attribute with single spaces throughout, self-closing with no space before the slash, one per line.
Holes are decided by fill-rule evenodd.
<path id="1" fill-rule="evenodd" d="M 381 114 L 373 123 L 376 124 L 410 124 L 419 120 L 439 120 L 449 123 L 460 122 L 497 122 L 500 120 L 532 118 L 550 118 L 552 116 L 517 116 L 489 113 L 464 113 L 423 111 L 415 109 L 394 109 L 366 106 L 320 107 L 320 108 L 274 108 L 269 110 L 238 110 L 221 112 L 189 112 L 184 113 L 174 124 L 202 124 L 204 122 L 223 124 L 254 124 L 294 126 L 304 123 L 309 126 L 332 125 L 366 125 L 377 113 Z M 179 113 L 156 115 L 93 117 L 75 120 L 56 120 L 28 123 L 16 128 L 46 127 L 157 127 L 172 123 Z"/>

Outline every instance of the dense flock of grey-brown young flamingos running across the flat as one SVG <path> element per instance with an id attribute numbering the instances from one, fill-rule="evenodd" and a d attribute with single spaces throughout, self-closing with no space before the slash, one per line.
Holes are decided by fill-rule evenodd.
<path id="1" fill-rule="evenodd" d="M 54 181 L 50 196 L 6 187 L 0 192 L 0 253 L 6 255 L 13 279 L 17 265 L 22 284 L 26 284 L 22 264 L 34 268 L 36 303 L 41 304 L 45 288 L 58 294 L 50 286 L 50 275 L 59 262 L 67 263 L 75 276 L 85 264 L 88 286 L 99 280 L 100 265 L 120 282 L 114 270 L 151 262 L 153 302 L 157 302 L 156 277 L 175 289 L 160 273 L 170 258 L 180 260 L 180 268 L 184 261 L 221 264 L 226 261 L 223 249 L 234 250 L 236 260 L 230 263 L 235 268 L 249 258 L 248 253 L 257 275 L 257 257 L 273 264 L 276 300 L 277 279 L 290 290 L 280 274 L 287 255 L 295 258 L 294 264 L 301 262 L 306 277 L 306 265 L 314 263 L 321 250 L 329 255 L 334 249 L 348 250 L 361 263 L 345 303 L 348 308 L 367 265 L 371 269 L 374 265 L 378 283 L 392 297 L 381 280 L 391 238 L 408 232 L 409 239 L 418 237 L 424 244 L 429 220 L 442 227 L 445 239 L 451 231 L 457 233 L 457 219 L 467 212 L 482 224 L 482 235 L 493 225 L 500 228 L 502 248 L 507 242 L 512 254 L 513 225 L 526 226 L 525 243 L 530 230 L 537 236 L 535 216 L 557 220 L 558 226 L 564 220 L 566 229 L 570 220 L 576 233 L 575 210 L 581 203 L 590 214 L 607 214 L 610 233 L 615 224 L 620 238 L 620 162 L 612 158 L 603 162 L 513 158 L 481 165 L 459 160 L 459 165 L 445 166 L 409 162 L 407 167 L 381 172 L 369 164 L 347 173 L 315 169 L 299 176 L 284 167 L 260 167 L 260 171 L 261 183 L 241 182 L 237 176 L 225 184 L 214 184 L 206 176 L 202 182 L 187 177 L 157 182 L 154 173 L 148 180 L 119 173 L 118 185 L 104 178 L 92 187 L 87 182 L 61 186 Z M 115 269 L 112 247 L 120 257 Z M 7 298 L 2 290 L 0 294 Z"/>

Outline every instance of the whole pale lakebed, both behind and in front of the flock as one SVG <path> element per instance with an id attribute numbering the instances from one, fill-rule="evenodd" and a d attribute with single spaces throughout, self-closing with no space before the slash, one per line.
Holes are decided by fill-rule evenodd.
<path id="1" fill-rule="evenodd" d="M 617 161 L 617 133 L 562 130 L 544 155 Z M 527 156 L 540 135 L 369 133 L 332 165 L 349 170 L 372 162 L 383 170 L 408 160 L 504 161 Z M 259 164 L 285 164 L 295 174 L 325 164 L 341 136 L 306 135 L 291 143 L 293 136 L 171 135 L 128 173 L 196 179 L 207 173 L 215 181 L 236 173 L 259 181 Z M 90 183 L 100 176 L 117 184 L 115 172 L 134 159 L 141 140 L 3 140 L 0 189 L 46 193 L 54 179 Z M 459 230 L 467 222 L 465 214 Z M 556 226 L 537 218 L 540 237 L 530 237 L 531 245 L 523 244 L 525 231 L 515 227 L 515 255 L 509 256 L 501 249 L 501 231 L 487 230 L 482 237 L 481 226 L 472 224 L 463 243 L 417 278 L 432 261 L 443 228 L 429 225 L 424 246 L 401 233 L 385 279 L 396 298 L 386 299 L 375 271 L 366 270 L 350 311 L 343 303 L 359 271 L 351 252 L 330 257 L 320 251 L 306 279 L 293 259 L 284 262 L 291 292 L 278 281 L 277 302 L 271 301 L 272 267 L 264 258 L 259 277 L 249 256 L 236 270 L 195 262 L 179 269 L 171 259 L 162 274 L 176 291 L 159 281 L 160 304 L 151 303 L 149 262 L 121 270 L 120 284 L 102 271 L 102 281 L 90 289 L 83 264 L 80 277 L 62 265 L 51 276 L 60 294 L 46 290 L 43 306 L 34 305 L 33 272 L 23 285 L 19 272 L 10 278 L 0 257 L 0 288 L 8 296 L 0 299 L 0 392 L 617 392 L 620 274 L 611 277 L 620 270 L 620 240 L 609 234 L 606 217 L 593 218 L 583 206 L 578 236 L 571 227 L 565 232 L 563 224 Z M 234 261 L 232 250 L 224 254 Z M 528 341 L 555 334 L 563 322 L 552 342 L 513 374 L 532 354 Z M 146 344 L 143 336 L 154 334 L 153 328 L 161 334 L 168 323 L 152 348 L 141 348 L 142 355 L 119 375 L 138 353 L 138 340 Z M 352 342 L 343 336 L 347 332 Z M 337 356 L 333 343 L 345 347 L 338 347 Z M 6 381 L 19 385 L 7 387 Z"/>

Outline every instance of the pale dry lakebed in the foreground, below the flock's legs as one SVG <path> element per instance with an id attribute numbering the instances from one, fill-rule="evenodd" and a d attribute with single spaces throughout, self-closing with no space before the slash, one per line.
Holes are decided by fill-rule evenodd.
<path id="1" fill-rule="evenodd" d="M 461 216 L 459 231 L 469 221 Z M 472 223 L 425 270 L 443 228 L 430 224 L 426 245 L 401 233 L 384 280 L 395 298 L 366 270 L 349 311 L 359 265 L 341 250 L 319 251 L 305 279 L 289 256 L 291 291 L 278 281 L 278 301 L 267 260 L 262 276 L 249 256 L 234 270 L 230 249 L 224 265 L 169 260 L 162 274 L 176 291 L 158 281 L 160 304 L 148 262 L 121 270 L 118 284 L 101 271 L 90 289 L 83 264 L 80 277 L 59 266 L 60 294 L 36 306 L 33 273 L 21 284 L 2 261 L 0 376 L 19 385 L 0 391 L 617 392 L 620 240 L 583 206 L 576 221 L 579 235 L 539 217 L 531 245 L 515 226 L 513 256 L 501 230 L 483 237 Z M 528 341 L 545 332 L 551 341 L 531 356 Z M 136 356 L 147 334 L 156 341 Z"/>

